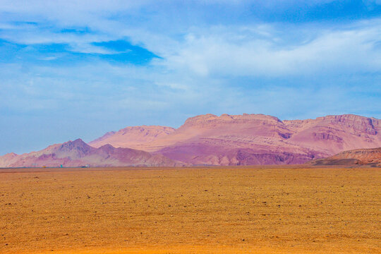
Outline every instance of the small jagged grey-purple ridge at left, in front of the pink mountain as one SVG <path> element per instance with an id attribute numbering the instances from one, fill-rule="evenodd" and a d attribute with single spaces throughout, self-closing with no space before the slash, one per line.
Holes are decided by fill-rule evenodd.
<path id="1" fill-rule="evenodd" d="M 163 155 L 129 148 L 103 145 L 95 148 L 77 139 L 63 144 L 51 145 L 38 152 L 0 157 L 0 167 L 122 167 L 122 166 L 179 166 Z"/>

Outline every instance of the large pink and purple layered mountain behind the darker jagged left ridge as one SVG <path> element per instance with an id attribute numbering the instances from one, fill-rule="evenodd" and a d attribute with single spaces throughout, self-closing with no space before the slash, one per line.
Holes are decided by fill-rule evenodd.
<path id="1" fill-rule="evenodd" d="M 381 121 L 351 114 L 284 121 L 263 114 L 205 114 L 177 129 L 148 127 L 108 133 L 90 145 L 131 147 L 195 165 L 301 164 L 344 150 L 381 147 Z"/>

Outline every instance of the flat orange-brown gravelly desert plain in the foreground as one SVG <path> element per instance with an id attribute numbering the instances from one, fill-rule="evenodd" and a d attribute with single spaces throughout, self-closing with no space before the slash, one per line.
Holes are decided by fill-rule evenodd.
<path id="1" fill-rule="evenodd" d="M 0 253 L 381 253 L 381 170 L 0 169 Z"/>

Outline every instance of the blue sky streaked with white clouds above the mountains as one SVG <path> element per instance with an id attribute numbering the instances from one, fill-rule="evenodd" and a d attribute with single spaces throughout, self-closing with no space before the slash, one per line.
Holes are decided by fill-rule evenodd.
<path id="1" fill-rule="evenodd" d="M 0 0 L 0 155 L 199 114 L 381 119 L 381 0 Z"/>

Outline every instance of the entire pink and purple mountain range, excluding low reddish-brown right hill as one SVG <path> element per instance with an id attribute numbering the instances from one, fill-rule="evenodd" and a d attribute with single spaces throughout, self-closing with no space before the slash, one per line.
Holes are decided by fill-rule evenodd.
<path id="1" fill-rule="evenodd" d="M 0 157 L 0 167 L 302 164 L 381 147 L 380 119 L 352 114 L 284 120 L 263 114 L 194 116 L 179 128 L 133 126 L 84 143 Z"/>

